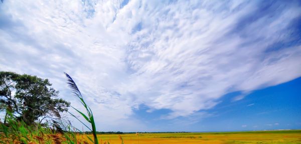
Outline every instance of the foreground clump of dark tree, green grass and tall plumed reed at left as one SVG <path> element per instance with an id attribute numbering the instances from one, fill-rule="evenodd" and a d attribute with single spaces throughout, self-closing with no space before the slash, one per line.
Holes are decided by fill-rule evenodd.
<path id="1" fill-rule="evenodd" d="M 86 112 L 71 107 L 86 120 L 85 122 L 90 123 L 91 128 L 68 111 L 70 102 L 54 98 L 58 91 L 50 87 L 48 79 L 0 71 L 0 110 L 6 113 L 5 120 L 0 119 L 1 143 L 88 143 L 77 136 L 80 130 L 61 116 L 60 112 L 68 111 L 91 130 L 93 138 L 88 134 L 85 138 L 98 144 L 92 110 L 84 101 L 71 76 L 67 73 L 65 75 L 72 93 L 80 100 Z M 42 122 L 43 120 L 45 122 Z"/>

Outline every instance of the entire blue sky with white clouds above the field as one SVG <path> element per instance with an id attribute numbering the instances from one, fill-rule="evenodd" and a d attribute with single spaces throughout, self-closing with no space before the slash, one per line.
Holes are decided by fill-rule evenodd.
<path id="1" fill-rule="evenodd" d="M 4 0 L 0 70 L 82 109 L 67 72 L 98 131 L 301 129 L 300 33 L 299 0 Z"/>

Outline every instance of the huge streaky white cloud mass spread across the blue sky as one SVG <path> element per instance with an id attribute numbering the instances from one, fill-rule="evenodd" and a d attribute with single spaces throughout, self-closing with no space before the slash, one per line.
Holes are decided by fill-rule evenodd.
<path id="1" fill-rule="evenodd" d="M 301 13 L 297 5 L 251 21 L 244 18 L 258 12 L 253 1 L 120 3 L 5 0 L 1 70 L 49 78 L 72 100 L 68 72 L 99 123 L 116 125 L 140 104 L 171 109 L 168 119 L 190 116 L 214 107 L 227 92 L 301 76 L 301 46 L 269 50 L 289 41 L 289 24 Z"/>

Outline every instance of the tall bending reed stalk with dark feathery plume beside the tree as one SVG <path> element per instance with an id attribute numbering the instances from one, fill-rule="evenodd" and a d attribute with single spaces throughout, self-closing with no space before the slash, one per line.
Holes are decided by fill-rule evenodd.
<path id="1" fill-rule="evenodd" d="M 93 137 L 94 137 L 94 141 L 92 140 L 92 138 L 90 138 L 88 135 L 88 139 L 91 140 L 92 142 L 94 142 L 95 144 L 98 144 L 98 140 L 97 140 L 97 135 L 96 135 L 96 126 L 95 126 L 95 121 L 94 121 L 94 117 L 93 117 L 93 113 L 91 108 L 86 104 L 81 92 L 79 91 L 76 83 L 74 82 L 74 80 L 71 78 L 71 76 L 69 74 L 67 74 L 65 72 L 65 75 L 67 77 L 68 80 L 68 86 L 72 89 L 73 94 L 79 98 L 81 104 L 85 107 L 86 111 L 87 111 L 87 115 L 84 114 L 83 112 L 81 112 L 80 110 L 76 109 L 75 107 L 71 106 L 72 108 L 74 108 L 78 113 L 80 113 L 85 119 L 86 121 L 88 121 L 91 124 L 92 129 L 87 126 L 83 121 L 81 121 L 79 118 L 77 118 L 74 114 L 70 113 L 73 117 L 75 117 L 77 120 L 79 120 L 81 123 L 83 123 L 88 129 L 90 129 L 92 131 Z"/>

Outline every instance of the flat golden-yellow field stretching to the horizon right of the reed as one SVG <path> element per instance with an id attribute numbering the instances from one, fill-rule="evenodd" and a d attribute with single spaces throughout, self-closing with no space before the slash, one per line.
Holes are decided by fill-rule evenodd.
<path id="1" fill-rule="evenodd" d="M 91 135 L 92 136 L 92 135 Z M 246 131 L 246 132 L 185 132 L 98 134 L 99 141 L 111 144 L 171 144 L 171 143 L 301 143 L 301 130 Z"/>

